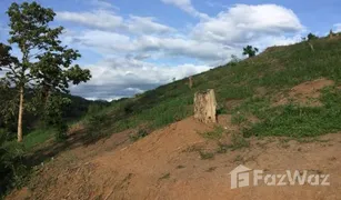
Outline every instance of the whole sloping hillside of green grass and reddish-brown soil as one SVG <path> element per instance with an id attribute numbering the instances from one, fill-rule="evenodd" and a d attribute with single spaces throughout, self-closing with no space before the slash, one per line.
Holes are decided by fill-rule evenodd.
<path id="1" fill-rule="evenodd" d="M 310 42 L 313 51 L 308 42 L 272 47 L 197 74 L 192 89 L 183 79 L 111 102 L 67 142 L 34 149 L 40 164 L 8 199 L 338 199 L 341 38 Z M 215 90 L 218 126 L 191 117 L 194 92 L 205 89 Z M 231 190 L 238 164 L 333 177 L 318 189 Z"/>

